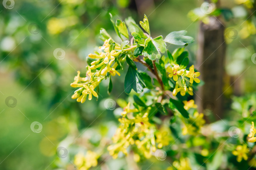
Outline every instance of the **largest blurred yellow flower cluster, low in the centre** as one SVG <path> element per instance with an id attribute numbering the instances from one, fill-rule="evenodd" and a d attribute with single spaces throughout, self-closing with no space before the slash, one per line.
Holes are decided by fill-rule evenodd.
<path id="1" fill-rule="evenodd" d="M 131 145 L 134 147 L 135 161 L 139 161 L 140 156 L 150 158 L 156 151 L 156 146 L 162 148 L 170 143 L 170 129 L 163 126 L 157 130 L 155 125 L 149 122 L 148 112 L 140 113 L 138 109 L 130 109 L 128 103 L 121 115 L 121 125 L 113 136 L 114 144 L 107 148 L 114 159 L 118 157 L 119 152 L 127 155 Z"/>

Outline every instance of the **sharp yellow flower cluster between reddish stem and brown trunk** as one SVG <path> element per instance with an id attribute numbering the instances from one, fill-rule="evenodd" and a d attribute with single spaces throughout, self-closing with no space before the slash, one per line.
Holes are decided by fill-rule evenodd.
<path id="1" fill-rule="evenodd" d="M 188 71 L 186 69 L 180 69 L 180 65 L 176 64 L 173 67 L 167 67 L 167 71 L 170 73 L 168 76 L 173 78 L 176 82 L 173 90 L 174 96 L 176 96 L 178 92 L 180 92 L 182 96 L 185 96 L 186 92 L 193 95 L 193 82 L 200 82 L 197 78 L 200 76 L 200 73 L 194 71 L 194 65 L 192 65 Z"/>

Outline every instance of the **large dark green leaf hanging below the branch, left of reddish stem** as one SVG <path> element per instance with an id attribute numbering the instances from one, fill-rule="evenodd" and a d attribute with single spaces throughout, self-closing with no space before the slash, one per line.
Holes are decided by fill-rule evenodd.
<path id="1" fill-rule="evenodd" d="M 140 73 L 133 69 L 133 67 L 129 66 L 125 76 L 125 93 L 129 94 L 131 89 L 136 93 L 142 93 L 144 87 L 146 87 L 146 84 Z"/>

